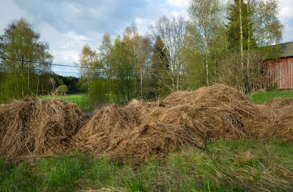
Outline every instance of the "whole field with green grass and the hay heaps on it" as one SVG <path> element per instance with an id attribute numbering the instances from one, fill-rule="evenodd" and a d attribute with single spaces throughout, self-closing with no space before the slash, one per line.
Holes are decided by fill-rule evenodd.
<path id="1" fill-rule="evenodd" d="M 14 101 L 0 107 L 0 191 L 292 192 L 293 99 L 265 102 L 279 96 L 291 91 L 213 85 L 90 116 Z"/>

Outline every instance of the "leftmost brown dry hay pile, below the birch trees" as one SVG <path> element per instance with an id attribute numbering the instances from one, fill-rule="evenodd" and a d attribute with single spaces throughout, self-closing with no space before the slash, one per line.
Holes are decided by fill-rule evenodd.
<path id="1" fill-rule="evenodd" d="M 33 97 L 0 106 L 0 156 L 15 162 L 27 155 L 66 151 L 83 125 L 75 104 Z"/>

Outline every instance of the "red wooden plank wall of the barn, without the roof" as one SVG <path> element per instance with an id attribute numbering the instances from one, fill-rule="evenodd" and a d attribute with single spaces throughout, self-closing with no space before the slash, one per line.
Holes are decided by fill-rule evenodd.
<path id="1" fill-rule="evenodd" d="M 279 89 L 293 89 L 293 57 L 265 62 L 264 80 L 268 88 L 276 82 Z"/>

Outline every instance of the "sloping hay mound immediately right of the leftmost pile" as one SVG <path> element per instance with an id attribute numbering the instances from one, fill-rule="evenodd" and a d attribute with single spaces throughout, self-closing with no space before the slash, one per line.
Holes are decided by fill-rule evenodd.
<path id="1" fill-rule="evenodd" d="M 128 135 L 147 115 L 150 107 L 157 106 L 133 100 L 125 107 L 102 107 L 75 136 L 75 146 L 86 151 L 103 152 Z"/>

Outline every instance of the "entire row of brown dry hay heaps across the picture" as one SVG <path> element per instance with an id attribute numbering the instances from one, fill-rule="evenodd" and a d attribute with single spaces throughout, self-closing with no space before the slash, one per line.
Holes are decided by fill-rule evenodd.
<path id="1" fill-rule="evenodd" d="M 159 106 L 137 100 L 105 106 L 85 122 L 76 105 L 29 98 L 0 107 L 0 128 L 0 155 L 6 160 L 72 145 L 142 163 L 171 151 L 203 149 L 209 139 L 293 141 L 293 107 L 257 105 L 236 89 L 212 85 L 174 92 Z"/>

